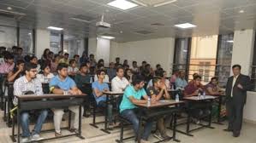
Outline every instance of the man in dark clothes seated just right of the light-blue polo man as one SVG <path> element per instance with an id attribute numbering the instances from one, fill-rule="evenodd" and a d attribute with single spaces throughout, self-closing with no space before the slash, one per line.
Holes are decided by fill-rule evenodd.
<path id="1" fill-rule="evenodd" d="M 74 77 L 74 83 L 76 83 L 77 85 L 77 88 L 80 89 L 82 91 L 82 93 L 84 94 L 91 94 L 92 93 L 92 90 L 91 89 L 88 89 L 86 88 L 84 85 L 85 83 L 90 83 L 90 75 L 88 75 L 87 73 L 88 71 L 88 67 L 86 66 L 86 63 L 82 63 L 80 65 L 80 72 L 78 74 L 75 75 Z M 85 112 L 84 112 L 84 116 L 88 117 L 90 116 L 90 102 L 89 102 L 89 96 L 86 96 L 86 99 L 85 99 Z"/>

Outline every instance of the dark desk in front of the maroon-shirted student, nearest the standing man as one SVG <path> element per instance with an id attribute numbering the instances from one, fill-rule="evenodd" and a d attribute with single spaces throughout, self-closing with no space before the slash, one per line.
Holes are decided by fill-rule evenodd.
<path id="1" fill-rule="evenodd" d="M 177 132 L 179 133 L 182 133 L 182 134 L 186 134 L 188 136 L 193 136 L 193 134 L 190 134 L 190 132 L 192 131 L 195 131 L 195 130 L 198 130 L 198 129 L 202 129 L 202 128 L 209 128 L 209 129 L 214 129 L 213 127 L 211 127 L 211 113 L 210 115 L 208 116 L 209 117 L 209 121 L 208 121 L 208 124 L 205 125 L 205 124 L 202 124 L 202 123 L 199 123 L 198 125 L 200 126 L 199 128 L 196 128 L 196 129 L 190 129 L 190 120 L 191 120 L 191 114 L 190 114 L 190 111 L 191 111 L 191 103 L 194 103 L 194 102 L 205 102 L 205 101 L 210 101 L 211 104 L 213 102 L 213 100 L 217 99 L 217 97 L 215 96 L 211 96 L 211 95 L 205 95 L 205 98 L 203 98 L 203 96 L 201 98 L 199 98 L 198 96 L 191 96 L 191 97 L 183 97 L 183 100 L 187 100 L 188 101 L 188 107 L 187 107 L 187 110 L 188 110 L 188 117 L 187 117 L 187 129 L 186 129 L 186 132 L 183 132 L 181 130 L 177 130 Z M 210 112 L 211 112 L 211 108 L 212 108 L 212 105 L 210 106 Z M 184 123 L 180 123 L 179 125 L 182 125 Z"/>

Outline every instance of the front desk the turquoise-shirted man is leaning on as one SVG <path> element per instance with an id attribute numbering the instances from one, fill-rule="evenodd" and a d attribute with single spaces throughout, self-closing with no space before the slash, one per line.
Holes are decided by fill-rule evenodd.
<path id="1" fill-rule="evenodd" d="M 184 103 L 184 101 L 179 101 L 176 102 L 175 100 L 159 100 L 154 104 L 151 104 L 150 106 L 148 106 L 147 104 L 135 104 L 135 106 L 139 107 L 139 133 L 141 133 L 141 122 L 142 122 L 142 108 L 147 109 L 147 110 L 151 110 L 151 109 L 156 109 L 159 107 L 167 107 L 167 106 L 176 106 L 176 105 L 180 105 Z M 138 143 L 140 143 L 140 135 L 138 134 L 137 138 L 138 138 Z M 180 140 L 176 139 L 176 112 L 174 112 L 174 125 L 173 125 L 173 134 L 172 137 L 170 137 L 170 139 L 175 140 L 176 142 L 180 142 Z M 165 140 L 159 140 L 157 142 L 162 142 Z"/>

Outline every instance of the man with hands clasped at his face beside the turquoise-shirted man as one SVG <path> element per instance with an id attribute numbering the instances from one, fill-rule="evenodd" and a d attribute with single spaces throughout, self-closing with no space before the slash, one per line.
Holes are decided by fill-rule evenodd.
<path id="1" fill-rule="evenodd" d="M 170 100 L 170 94 L 162 79 L 160 77 L 154 77 L 152 82 L 153 86 L 146 89 L 147 95 L 150 96 L 152 100 Z M 170 136 L 166 134 L 164 118 L 165 117 L 161 117 L 158 119 L 157 132 L 154 134 L 159 140 L 170 138 Z"/>

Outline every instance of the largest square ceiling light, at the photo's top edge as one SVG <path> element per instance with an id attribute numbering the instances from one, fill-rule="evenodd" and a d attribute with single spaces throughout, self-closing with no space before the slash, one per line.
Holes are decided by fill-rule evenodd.
<path id="1" fill-rule="evenodd" d="M 108 5 L 122 10 L 132 9 L 138 6 L 138 4 L 128 2 L 127 0 L 115 0 L 113 2 L 108 3 Z"/>

